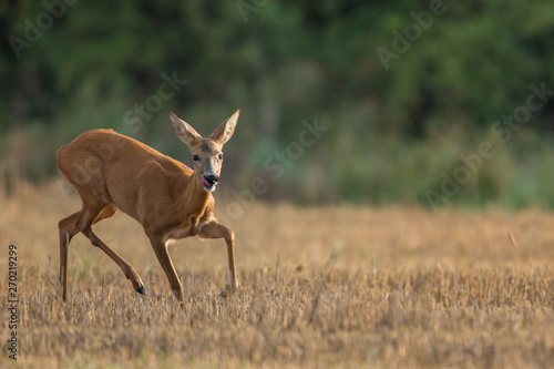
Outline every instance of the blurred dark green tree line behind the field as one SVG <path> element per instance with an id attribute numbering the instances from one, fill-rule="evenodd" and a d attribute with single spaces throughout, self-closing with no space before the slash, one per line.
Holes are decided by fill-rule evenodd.
<path id="1" fill-rule="evenodd" d="M 58 147 L 93 127 L 191 164 L 167 113 L 207 135 L 240 109 L 228 188 L 261 177 L 260 197 L 300 203 L 429 204 L 431 191 L 554 205 L 547 2 L 4 1 L 0 34 L 7 178 L 57 174 Z M 504 142 L 492 127 L 530 85 L 545 100 Z M 328 130 L 298 145 L 308 125 Z M 470 167 L 461 156 L 483 142 L 495 154 Z"/>

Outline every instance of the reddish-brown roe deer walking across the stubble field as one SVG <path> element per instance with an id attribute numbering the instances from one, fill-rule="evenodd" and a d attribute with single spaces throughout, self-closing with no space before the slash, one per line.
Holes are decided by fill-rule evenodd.
<path id="1" fill-rule="evenodd" d="M 80 134 L 58 152 L 58 167 L 75 187 L 82 208 L 63 218 L 60 228 L 60 281 L 62 298 L 68 291 L 68 254 L 79 232 L 107 254 L 131 279 L 133 288 L 146 295 L 136 270 L 104 244 L 92 225 L 121 209 L 144 227 L 173 293 L 183 301 L 183 286 L 167 252 L 172 239 L 198 235 L 225 238 L 230 271 L 230 293 L 237 288 L 235 235 L 214 216 L 215 189 L 223 163 L 223 145 L 233 136 L 239 111 L 203 139 L 191 125 L 171 113 L 177 136 L 193 154 L 194 171 L 154 148 L 112 130 Z M 226 295 L 226 289 L 222 293 Z"/>

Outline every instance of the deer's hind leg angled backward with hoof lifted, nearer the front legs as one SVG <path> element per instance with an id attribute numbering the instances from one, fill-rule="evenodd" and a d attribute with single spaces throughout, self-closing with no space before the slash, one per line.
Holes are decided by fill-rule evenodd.
<path id="1" fill-rule="evenodd" d="M 93 246 L 99 247 L 102 249 L 107 256 L 112 258 L 112 260 L 115 262 L 125 275 L 127 279 L 131 279 L 131 283 L 133 284 L 133 288 L 142 295 L 146 295 L 146 288 L 144 287 L 144 284 L 136 273 L 136 270 L 129 264 L 125 259 L 123 259 L 117 253 L 112 250 L 110 247 L 107 247 L 106 244 L 102 239 L 100 239 L 99 236 L 92 230 L 91 226 L 94 223 L 100 222 L 103 218 L 110 217 L 113 214 L 115 214 L 115 207 L 113 205 L 106 205 L 106 206 L 100 206 L 100 207 L 92 207 L 92 206 L 84 206 L 80 212 L 79 219 L 76 221 L 75 227 L 81 232 L 83 235 L 86 236 L 86 238 L 90 239 L 91 244 Z"/>

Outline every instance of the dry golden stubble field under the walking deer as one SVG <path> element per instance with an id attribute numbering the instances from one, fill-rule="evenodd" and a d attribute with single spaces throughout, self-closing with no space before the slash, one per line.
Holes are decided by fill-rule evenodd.
<path id="1" fill-rule="evenodd" d="M 0 301 L 4 307 L 14 243 L 18 363 L 25 368 L 554 362 L 554 216 L 547 213 L 257 204 L 233 224 L 242 288 L 229 299 L 218 296 L 223 240 L 171 246 L 186 290 L 179 306 L 141 227 L 122 214 L 100 223 L 98 234 L 136 268 L 150 295 L 135 294 L 107 256 L 76 236 L 69 301 L 61 303 L 57 222 L 79 199 L 51 184 L 22 186 L 0 204 Z M 4 308 L 0 319 L 6 342 Z M 10 363 L 4 348 L 0 367 Z"/>

